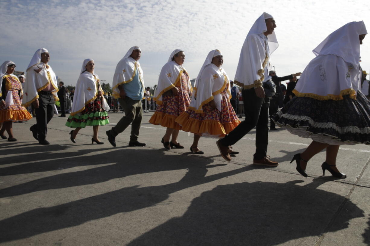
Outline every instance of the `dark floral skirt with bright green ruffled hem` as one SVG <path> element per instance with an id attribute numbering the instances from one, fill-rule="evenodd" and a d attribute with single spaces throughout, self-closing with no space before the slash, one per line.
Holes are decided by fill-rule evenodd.
<path id="1" fill-rule="evenodd" d="M 109 124 L 107 111 L 101 107 L 99 99 L 85 105 L 85 109 L 77 115 L 70 115 L 65 123 L 66 126 L 85 128 L 86 126 L 104 126 Z"/>

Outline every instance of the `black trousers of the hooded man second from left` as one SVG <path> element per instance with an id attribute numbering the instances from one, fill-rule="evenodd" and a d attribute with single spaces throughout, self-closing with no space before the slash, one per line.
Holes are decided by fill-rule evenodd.
<path id="1" fill-rule="evenodd" d="M 54 115 L 53 95 L 38 94 L 39 106 L 36 109 L 36 124 L 32 127 L 37 129 L 38 139 L 45 139 L 47 134 L 47 123 Z"/>

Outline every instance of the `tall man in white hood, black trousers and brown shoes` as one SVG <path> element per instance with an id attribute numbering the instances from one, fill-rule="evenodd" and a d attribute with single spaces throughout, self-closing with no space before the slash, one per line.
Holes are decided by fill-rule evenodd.
<path id="1" fill-rule="evenodd" d="M 278 165 L 267 156 L 270 98 L 266 97 L 263 88 L 270 80 L 270 55 L 279 46 L 274 33 L 275 27 L 273 17 L 263 13 L 250 28 L 240 52 L 234 82 L 243 88 L 245 120 L 226 137 L 217 141 L 220 153 L 227 161 L 231 160 L 229 146 L 256 127 L 256 152 L 253 155 L 253 164 L 269 167 Z"/>

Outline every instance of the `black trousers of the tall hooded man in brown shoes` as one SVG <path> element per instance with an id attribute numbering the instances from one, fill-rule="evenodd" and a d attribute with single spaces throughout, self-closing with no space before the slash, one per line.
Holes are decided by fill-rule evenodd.
<path id="1" fill-rule="evenodd" d="M 267 156 L 267 145 L 269 139 L 269 98 L 262 98 L 256 95 L 255 89 L 242 90 L 244 100 L 245 120 L 243 120 L 234 130 L 221 139 L 225 146 L 231 146 L 238 142 L 250 130 L 256 127 L 256 153 L 254 160 L 260 160 Z"/>

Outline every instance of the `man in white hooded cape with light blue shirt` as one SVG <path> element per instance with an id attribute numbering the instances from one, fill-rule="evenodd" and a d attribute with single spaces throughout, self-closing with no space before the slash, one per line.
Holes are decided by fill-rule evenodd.
<path id="1" fill-rule="evenodd" d="M 108 141 L 114 147 L 116 146 L 115 137 L 131 123 L 131 136 L 128 145 L 146 145 L 138 141 L 142 120 L 141 100 L 144 99 L 145 88 L 143 73 L 139 63 L 140 57 L 141 49 L 138 46 L 131 47 L 121 61 L 118 62 L 114 72 L 112 96 L 118 99 L 125 111 L 125 116 L 122 117 L 117 125 L 106 132 Z"/>

